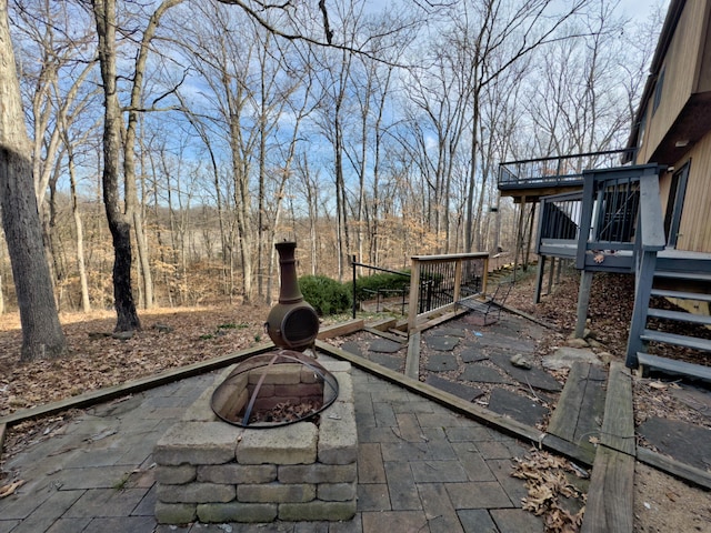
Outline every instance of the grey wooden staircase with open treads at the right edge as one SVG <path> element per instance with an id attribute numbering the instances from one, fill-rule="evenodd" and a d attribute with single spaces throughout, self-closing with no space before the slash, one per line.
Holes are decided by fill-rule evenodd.
<path id="1" fill-rule="evenodd" d="M 701 270 L 665 270 L 672 266 L 672 261 L 660 260 L 660 269 L 654 272 L 654 281 L 651 290 L 652 296 L 677 300 L 680 305 L 689 302 L 691 305 L 711 304 L 711 274 Z M 711 315 L 695 314 L 687 311 L 671 311 L 651 306 L 654 299 L 650 300 L 647 311 L 647 323 L 640 334 L 644 346 L 654 343 L 655 351 L 661 352 L 662 346 L 669 346 L 668 352 L 678 348 L 691 349 L 699 352 L 701 358 L 711 356 L 711 335 L 703 335 L 699 328 L 683 328 L 692 333 L 670 333 L 667 330 L 678 329 L 673 324 L 693 324 L 700 328 L 711 328 Z M 650 319 L 653 319 L 650 321 Z M 697 336 L 701 332 L 702 336 Z M 711 381 L 711 366 L 694 364 L 671 356 L 660 356 L 647 351 L 638 351 L 637 360 L 643 374 L 650 370 L 664 373 L 687 375 L 695 379 Z M 711 364 L 711 361 L 709 361 Z"/>

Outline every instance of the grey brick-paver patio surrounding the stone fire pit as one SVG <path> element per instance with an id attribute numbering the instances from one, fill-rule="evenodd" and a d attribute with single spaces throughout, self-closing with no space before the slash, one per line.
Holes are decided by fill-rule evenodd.
<path id="1" fill-rule="evenodd" d="M 515 513 L 524 482 L 509 475 L 511 459 L 522 456 L 525 443 L 357 369 L 352 375 L 359 433 L 356 517 L 341 523 L 281 522 L 280 531 L 467 533 L 494 524 L 501 532 L 513 531 L 502 527 L 512 527 L 507 524 L 514 519 L 525 519 Z M 4 469 L 27 483 L 0 500 L 0 532 L 261 530 L 254 524 L 174 527 L 159 525 L 153 517 L 152 443 L 172 423 L 169 416 L 179 412 L 168 405 L 182 404 L 184 411 L 213 380 L 214 373 L 196 376 L 134 394 L 123 405 L 89 409 L 62 434 L 8 457 Z M 166 416 L 161 420 L 159 413 Z M 109 460 L 108 452 L 116 457 Z M 264 531 L 270 527 L 276 526 Z M 543 526 L 533 520 L 525 531 L 541 533 Z"/>

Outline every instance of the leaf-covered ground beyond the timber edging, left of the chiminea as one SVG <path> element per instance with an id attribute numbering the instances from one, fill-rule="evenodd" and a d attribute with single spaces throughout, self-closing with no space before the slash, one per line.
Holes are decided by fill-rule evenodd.
<path id="1" fill-rule="evenodd" d="M 0 316 L 0 416 L 124 383 L 163 370 L 250 348 L 266 338 L 267 306 L 157 309 L 140 314 L 143 329 L 112 336 L 106 311 L 62 315 L 69 354 L 20 362 L 17 313 Z"/>

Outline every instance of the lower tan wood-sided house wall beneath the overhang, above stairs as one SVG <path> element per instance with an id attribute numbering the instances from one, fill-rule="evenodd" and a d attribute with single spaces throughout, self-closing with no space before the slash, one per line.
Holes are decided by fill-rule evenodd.
<path id="1" fill-rule="evenodd" d="M 711 205 L 711 133 L 693 145 L 680 159 L 674 168 L 680 169 L 691 159 L 689 181 L 684 195 L 684 208 L 679 225 L 678 250 L 711 253 L 711 222 L 709 220 Z M 665 209 L 671 175 L 662 180 L 661 198 Z M 667 191 L 664 193 L 664 190 Z M 663 212 L 663 211 L 662 211 Z"/>

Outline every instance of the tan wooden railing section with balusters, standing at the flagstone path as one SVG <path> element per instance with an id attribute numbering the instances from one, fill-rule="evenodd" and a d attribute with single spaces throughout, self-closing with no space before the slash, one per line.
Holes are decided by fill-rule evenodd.
<path id="1" fill-rule="evenodd" d="M 488 272 L 488 252 L 412 257 L 408 331 L 461 298 L 485 293 Z"/>

